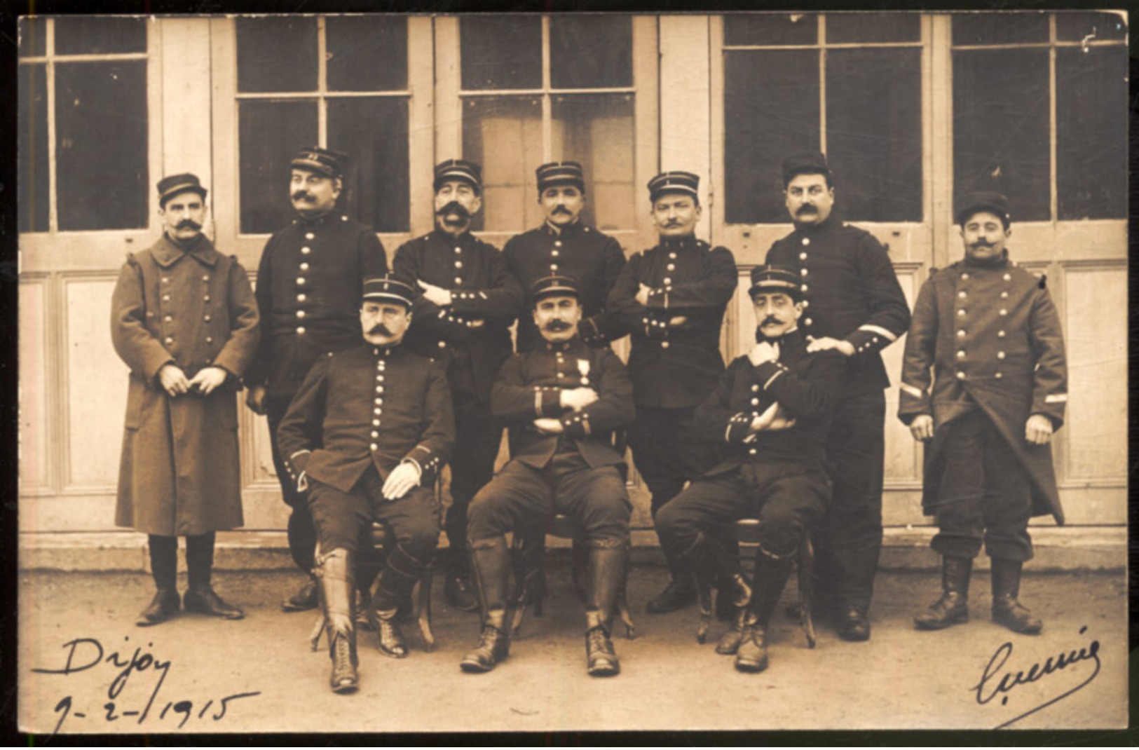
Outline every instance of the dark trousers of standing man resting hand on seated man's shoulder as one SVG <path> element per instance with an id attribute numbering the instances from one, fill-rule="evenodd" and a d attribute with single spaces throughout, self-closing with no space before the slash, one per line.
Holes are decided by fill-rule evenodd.
<path id="1" fill-rule="evenodd" d="M 839 400 L 827 435 L 830 511 L 816 535 L 819 589 L 836 603 L 869 610 L 882 551 L 886 396 Z"/>

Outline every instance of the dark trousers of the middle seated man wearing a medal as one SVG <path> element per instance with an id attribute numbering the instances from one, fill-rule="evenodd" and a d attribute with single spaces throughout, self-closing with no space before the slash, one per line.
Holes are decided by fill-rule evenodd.
<path id="1" fill-rule="evenodd" d="M 573 516 L 585 544 L 617 547 L 629 541 L 632 504 L 615 466 L 590 468 L 576 451 L 559 451 L 543 468 L 515 459 L 470 504 L 472 543 L 514 530 L 543 530 L 555 512 Z"/>

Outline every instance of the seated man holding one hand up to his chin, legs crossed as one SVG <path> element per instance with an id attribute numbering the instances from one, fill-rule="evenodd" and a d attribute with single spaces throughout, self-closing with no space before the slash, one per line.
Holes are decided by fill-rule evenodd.
<path id="1" fill-rule="evenodd" d="M 736 626 L 716 652 L 735 653 L 740 671 L 762 671 L 767 626 L 795 552 L 830 502 L 823 457 L 845 358 L 811 351 L 798 331 L 803 303 L 793 271 L 757 267 L 749 293 L 756 344 L 731 362 L 694 417 L 700 434 L 729 443 L 727 458 L 661 508 L 656 527 L 669 554 L 730 593 L 738 608 Z M 761 522 L 751 584 L 715 539 L 740 517 Z"/>

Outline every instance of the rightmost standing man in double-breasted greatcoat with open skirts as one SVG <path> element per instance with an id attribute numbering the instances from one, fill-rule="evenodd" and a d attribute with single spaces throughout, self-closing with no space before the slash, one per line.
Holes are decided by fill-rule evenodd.
<path id="1" fill-rule="evenodd" d="M 936 630 L 969 619 L 969 573 L 984 541 L 993 621 L 1035 635 L 1042 623 L 1017 596 L 1032 559 L 1029 519 L 1050 513 L 1064 523 L 1048 446 L 1067 403 L 1064 336 L 1044 278 L 1008 259 L 1005 196 L 962 203 L 965 259 L 921 286 L 906 340 L 898 414 L 928 441 L 921 506 L 936 517 L 931 546 L 943 588 L 913 622 Z"/>

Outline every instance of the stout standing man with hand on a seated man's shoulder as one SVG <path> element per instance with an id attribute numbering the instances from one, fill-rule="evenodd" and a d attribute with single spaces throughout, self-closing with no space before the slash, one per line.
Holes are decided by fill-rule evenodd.
<path id="1" fill-rule="evenodd" d="M 879 352 L 906 333 L 910 309 L 886 248 L 831 215 L 826 157 L 816 152 L 786 160 L 782 181 L 795 231 L 771 245 L 767 262 L 800 275 L 809 351 L 836 349 L 847 357 L 827 439 L 830 513 L 816 539 L 820 604 L 830 604 L 839 637 L 867 641 L 882 552 L 890 385 Z"/>

